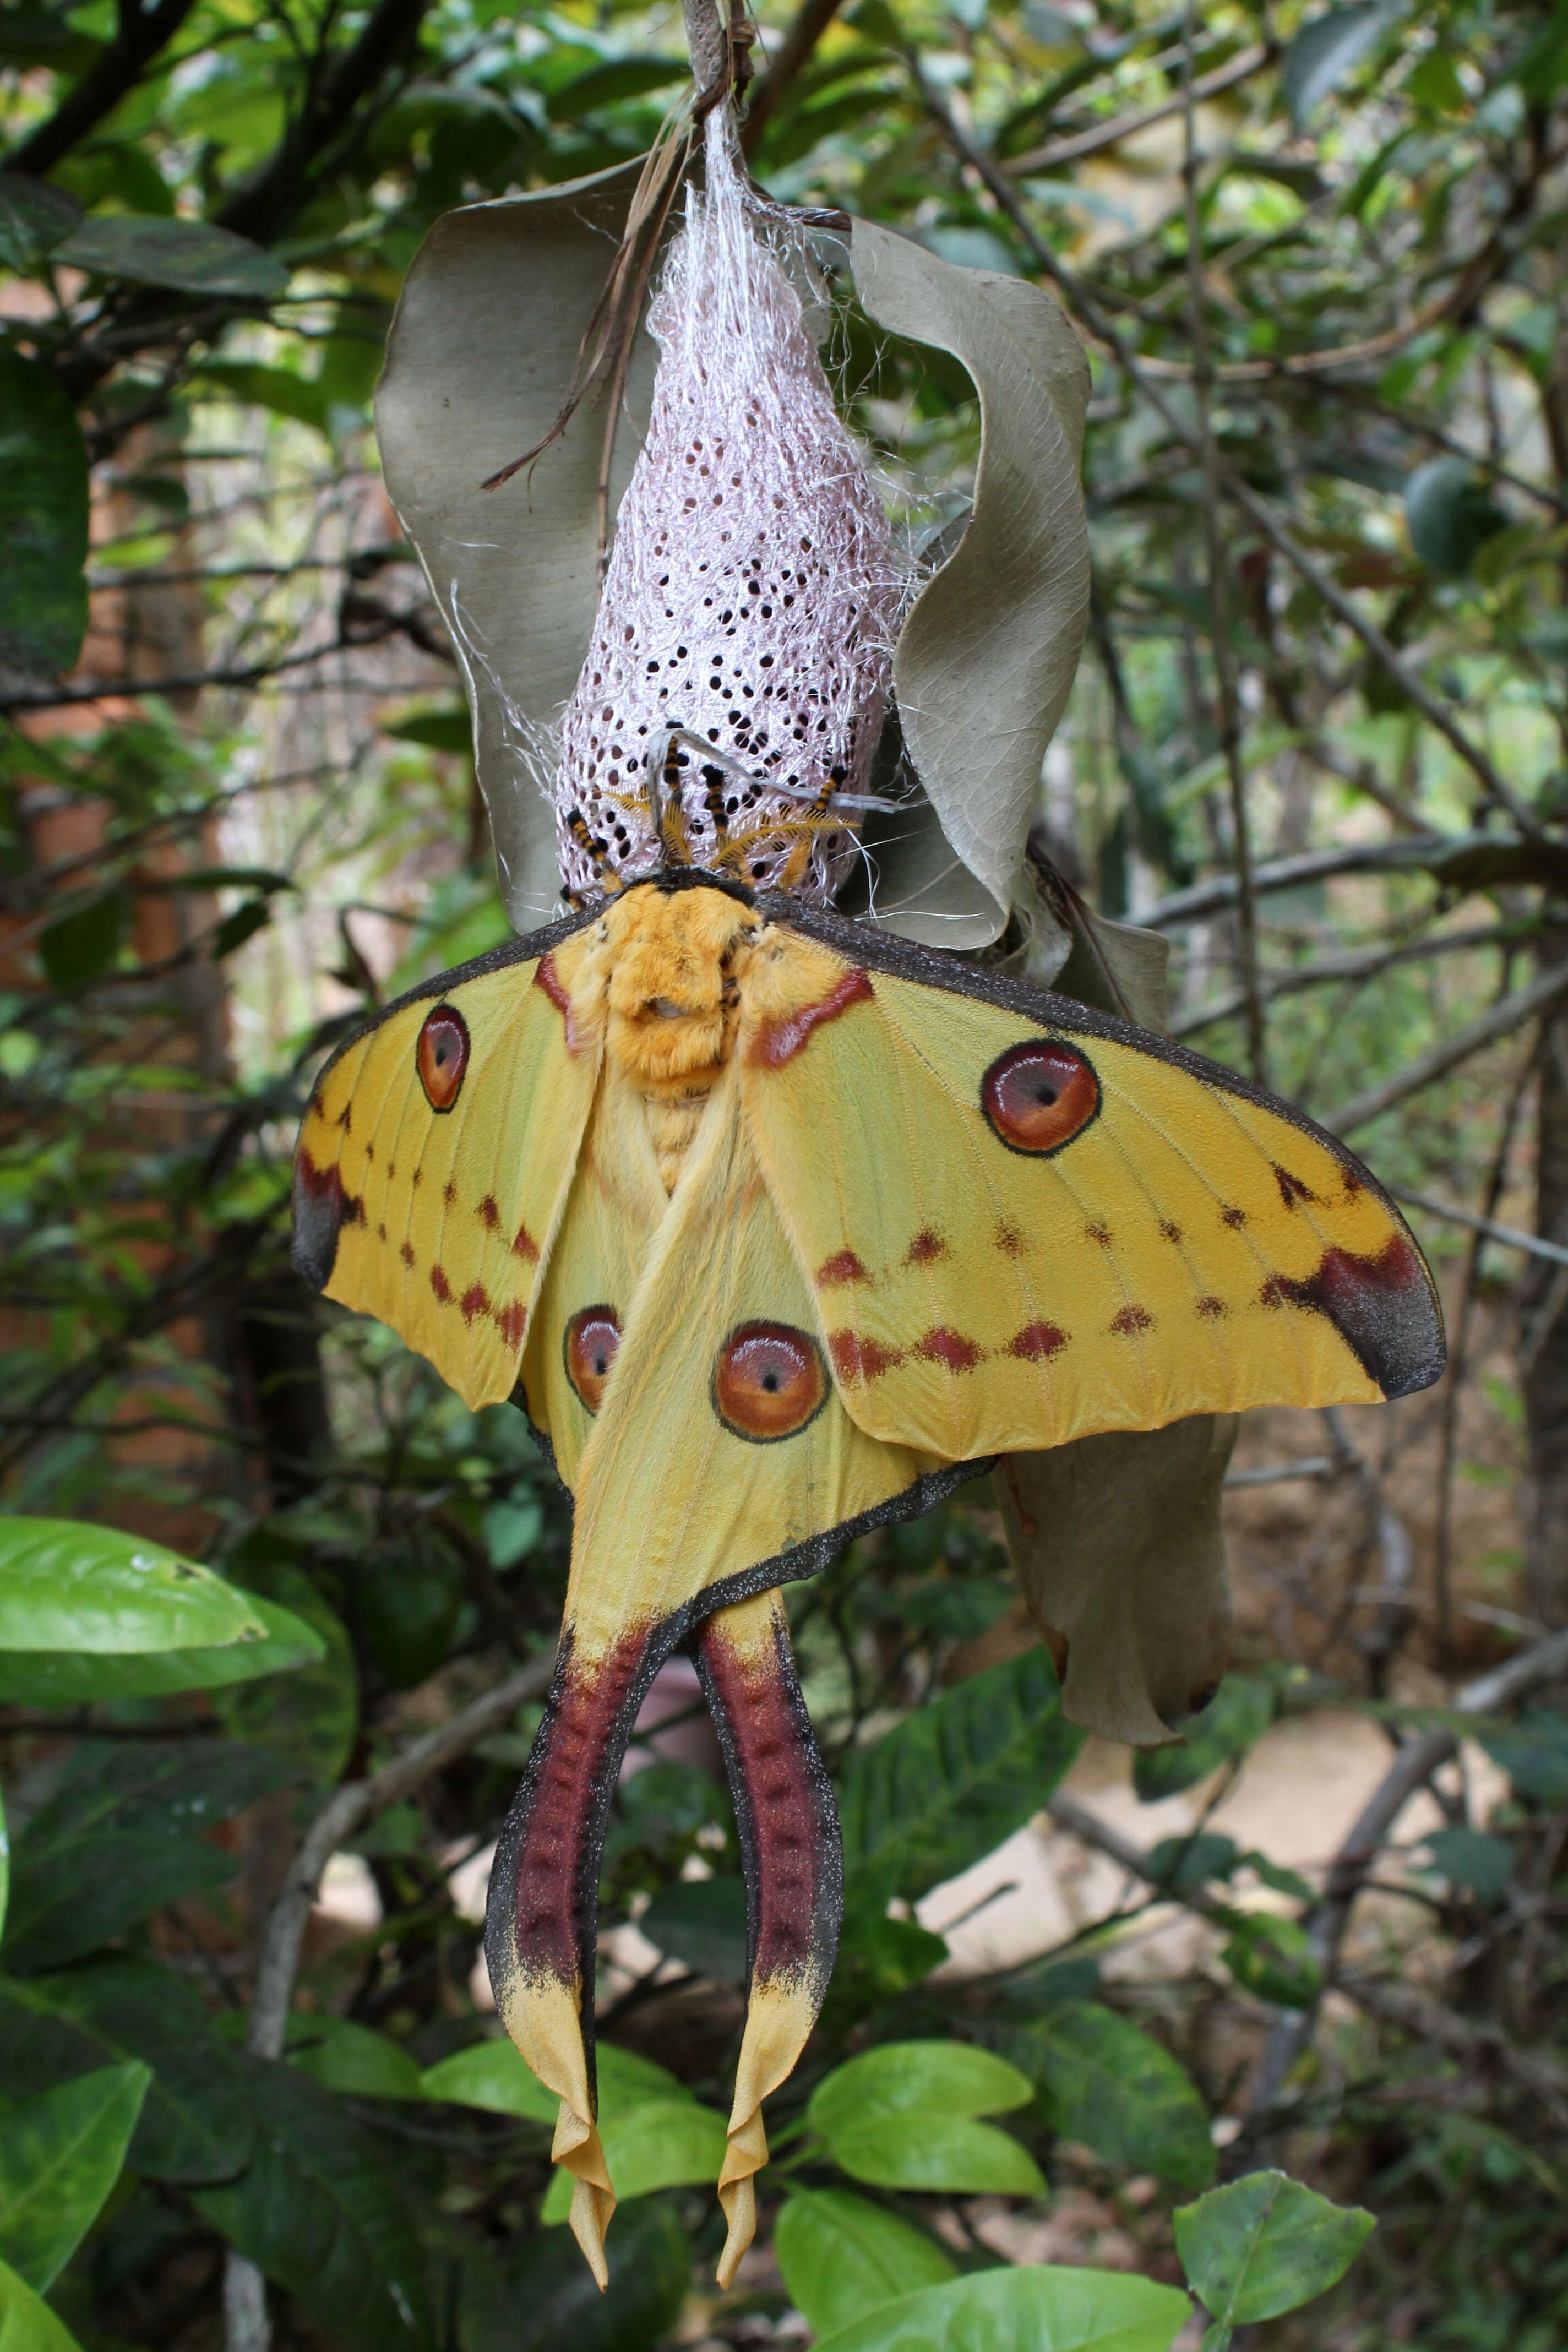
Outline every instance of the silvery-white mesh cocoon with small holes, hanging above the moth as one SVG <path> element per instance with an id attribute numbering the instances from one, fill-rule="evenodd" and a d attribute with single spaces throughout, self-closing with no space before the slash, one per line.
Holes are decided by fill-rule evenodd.
<path id="1" fill-rule="evenodd" d="M 715 113 L 708 186 L 689 195 L 649 313 L 649 437 L 562 720 L 555 807 L 578 906 L 663 863 L 649 750 L 672 727 L 731 762 L 675 755 L 691 863 L 830 898 L 856 858 L 853 816 L 825 802 L 865 790 L 900 583 L 799 296 L 755 219 Z"/>

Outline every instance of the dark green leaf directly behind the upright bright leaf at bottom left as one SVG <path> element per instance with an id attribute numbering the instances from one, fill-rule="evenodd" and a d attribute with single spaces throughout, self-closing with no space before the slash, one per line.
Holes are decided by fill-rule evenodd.
<path id="1" fill-rule="evenodd" d="M 153 2067 L 153 2084 L 132 2138 L 134 2171 L 174 2183 L 237 2173 L 256 2136 L 252 2067 L 216 2039 L 190 1985 L 150 1959 L 0 1976 L 7 2098 L 136 2058 Z"/>

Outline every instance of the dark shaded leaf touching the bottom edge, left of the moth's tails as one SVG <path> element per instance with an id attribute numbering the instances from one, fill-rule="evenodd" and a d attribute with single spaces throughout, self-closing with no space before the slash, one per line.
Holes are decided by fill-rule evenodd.
<path id="1" fill-rule="evenodd" d="M 296 2067 L 254 2079 L 256 2154 L 197 2209 L 350 2352 L 430 2345 L 418 2232 L 376 2140 Z"/>

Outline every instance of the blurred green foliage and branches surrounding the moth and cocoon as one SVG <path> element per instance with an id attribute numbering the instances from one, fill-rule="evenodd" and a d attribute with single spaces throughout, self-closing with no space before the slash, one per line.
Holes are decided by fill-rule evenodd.
<path id="1" fill-rule="evenodd" d="M 0 1465 L 96 1534 L 0 1545 L 0 2340 L 1133 2352 L 1185 2277 L 1182 2343 L 1552 2352 L 1568 12 L 804 0 L 762 64 L 766 188 L 1044 278 L 1086 334 L 1095 602 L 1041 840 L 1171 934 L 1178 1035 L 1427 1204 L 1455 1376 L 1246 1432 L 1239 1668 L 1135 1766 L 1197 1792 L 1178 1837 L 1084 1802 L 985 1489 L 792 1595 L 849 1917 L 729 2298 L 733 1820 L 682 1726 L 644 1752 L 599 2300 L 461 1867 L 527 1752 L 562 1501 L 517 1416 L 306 1298 L 284 1183 L 322 1049 L 505 929 L 369 437 L 397 285 L 442 209 L 639 153 L 679 24 L 5 0 Z M 835 365 L 889 499 L 959 515 L 966 379 L 853 315 Z M 209 1562 L 212 1616 L 108 1529 Z M 1291 1738 L 1309 1816 L 1356 1710 L 1389 1757 L 1338 1856 L 1208 1825 Z M 1103 1900 L 933 1983 L 914 1912 L 952 1924 L 924 1898 L 1046 1806 Z"/>

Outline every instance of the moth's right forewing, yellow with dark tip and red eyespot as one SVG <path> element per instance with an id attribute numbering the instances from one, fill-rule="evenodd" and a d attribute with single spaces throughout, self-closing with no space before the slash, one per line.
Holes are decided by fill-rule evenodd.
<path id="1" fill-rule="evenodd" d="M 813 974 L 846 929 L 811 924 Z M 748 1136 L 860 1428 L 973 1458 L 1436 1378 L 1420 1251 L 1321 1129 L 1067 1000 L 872 957 L 741 1042 Z"/>

